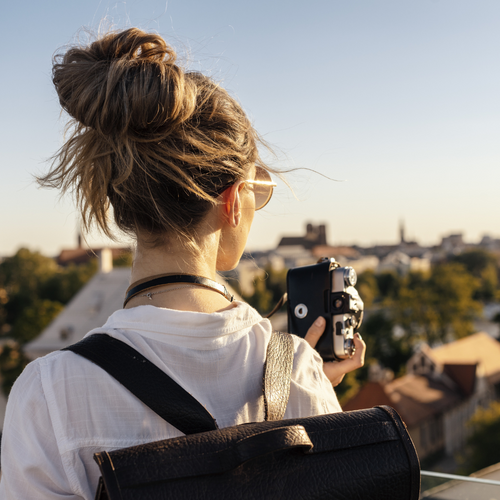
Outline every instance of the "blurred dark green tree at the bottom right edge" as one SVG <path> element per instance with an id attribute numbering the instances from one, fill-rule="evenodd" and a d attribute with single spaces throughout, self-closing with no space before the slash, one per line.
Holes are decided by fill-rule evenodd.
<path id="1" fill-rule="evenodd" d="M 466 474 L 500 462 L 500 401 L 479 408 L 468 425 L 473 431 L 465 453 Z"/>

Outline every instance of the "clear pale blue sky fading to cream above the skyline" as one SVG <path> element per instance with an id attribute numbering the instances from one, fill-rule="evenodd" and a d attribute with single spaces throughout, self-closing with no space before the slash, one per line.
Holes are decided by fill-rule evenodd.
<path id="1" fill-rule="evenodd" d="M 306 221 L 332 244 L 500 237 L 498 0 L 25 0 L 2 5 L 0 255 L 75 244 L 71 199 L 32 174 L 62 144 L 51 57 L 81 27 L 156 30 L 223 82 L 288 176 L 250 249 Z M 99 243 L 96 236 L 91 243 Z"/>

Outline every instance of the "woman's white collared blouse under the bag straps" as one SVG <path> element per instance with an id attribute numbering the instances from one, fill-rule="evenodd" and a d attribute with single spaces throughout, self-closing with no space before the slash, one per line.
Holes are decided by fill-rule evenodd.
<path id="1" fill-rule="evenodd" d="M 122 309 L 105 332 L 134 347 L 204 404 L 219 427 L 262 421 L 262 374 L 271 324 L 243 302 L 220 313 Z M 341 411 L 322 360 L 293 337 L 285 418 Z M 182 435 L 101 368 L 72 352 L 30 363 L 7 404 L 1 500 L 93 500 L 94 453 Z"/>

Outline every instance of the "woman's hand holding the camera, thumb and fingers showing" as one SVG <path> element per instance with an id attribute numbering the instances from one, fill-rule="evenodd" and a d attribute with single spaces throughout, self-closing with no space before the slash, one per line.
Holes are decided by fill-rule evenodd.
<path id="1" fill-rule="evenodd" d="M 316 347 L 318 340 L 325 331 L 325 325 L 325 318 L 320 316 L 307 331 L 304 339 L 311 347 Z M 354 346 L 356 347 L 356 352 L 352 358 L 323 363 L 323 371 L 333 386 L 339 385 L 346 373 L 361 368 L 365 364 L 366 344 L 359 333 L 354 334 Z"/>

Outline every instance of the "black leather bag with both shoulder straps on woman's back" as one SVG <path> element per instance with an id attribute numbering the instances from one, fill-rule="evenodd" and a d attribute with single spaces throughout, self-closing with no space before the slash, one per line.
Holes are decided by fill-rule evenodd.
<path id="1" fill-rule="evenodd" d="M 96 500 L 418 500 L 418 457 L 406 426 L 394 409 L 381 406 L 278 419 L 288 401 L 293 361 L 286 337 L 287 334 L 274 334 L 268 348 L 266 421 L 225 429 L 217 429 L 215 420 L 201 404 L 120 341 L 94 335 L 70 346 L 69 350 L 102 366 L 144 402 L 152 396 L 152 408 L 188 434 L 97 453 L 94 458 L 102 478 Z M 97 345 L 103 339 L 112 342 L 103 348 Z M 80 345 L 85 342 L 86 345 Z M 139 372 L 129 362 L 140 368 Z M 120 368 L 123 363 L 126 370 Z M 154 391 L 143 397 L 144 385 L 138 379 L 148 377 L 146 385 L 151 386 L 150 365 L 153 372 L 158 370 L 174 384 L 167 383 L 167 392 L 176 386 L 174 412 L 168 408 L 171 405 L 158 406 L 162 398 L 158 393 L 153 395 Z M 172 393 L 169 397 L 173 397 Z M 172 413 L 177 420 L 171 418 Z"/>

